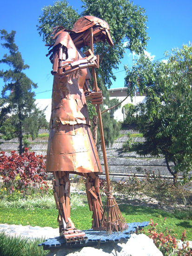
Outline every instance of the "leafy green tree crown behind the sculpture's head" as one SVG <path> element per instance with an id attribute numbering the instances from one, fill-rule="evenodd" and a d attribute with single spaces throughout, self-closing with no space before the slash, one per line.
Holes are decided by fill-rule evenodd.
<path id="1" fill-rule="evenodd" d="M 104 85 L 111 86 L 111 78 L 115 80 L 113 68 L 117 69 L 120 60 L 123 58 L 126 48 L 136 53 L 142 53 L 146 48 L 149 39 L 146 33 L 145 10 L 133 5 L 127 0 L 82 0 L 83 15 L 93 15 L 105 20 L 110 27 L 110 34 L 114 42 L 114 47 L 108 44 L 97 43 L 94 53 L 100 55 L 100 67 L 97 73 L 101 77 Z M 56 1 L 53 6 L 43 7 L 37 25 L 39 34 L 43 35 L 43 40 L 50 43 L 52 27 L 58 25 L 71 29 L 75 21 L 79 18 L 77 10 L 68 5 L 66 0 Z M 126 42 L 126 46 L 125 45 Z"/>

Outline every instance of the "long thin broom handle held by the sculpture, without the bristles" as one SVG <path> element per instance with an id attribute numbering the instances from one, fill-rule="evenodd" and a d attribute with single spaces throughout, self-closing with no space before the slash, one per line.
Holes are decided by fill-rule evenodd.
<path id="1" fill-rule="evenodd" d="M 94 49 L 93 49 L 93 27 L 90 27 L 90 48 L 91 48 L 91 51 L 93 52 L 94 51 Z M 92 67 L 92 74 L 93 74 L 95 92 L 98 92 L 97 76 L 96 76 L 94 67 Z M 101 110 L 100 110 L 99 105 L 96 105 L 96 108 L 97 108 L 97 115 L 99 118 L 99 130 L 100 130 L 100 135 L 101 135 L 101 146 L 102 146 L 103 160 L 104 160 L 105 173 L 106 173 L 106 185 L 107 185 L 107 190 L 109 192 L 109 191 L 111 191 L 111 188 L 110 188 L 109 171 L 108 171 L 108 165 L 107 165 L 107 159 L 106 159 L 106 145 L 105 145 L 105 139 L 104 139 L 104 134 L 103 134 L 103 122 L 102 122 L 102 118 L 101 118 Z"/>

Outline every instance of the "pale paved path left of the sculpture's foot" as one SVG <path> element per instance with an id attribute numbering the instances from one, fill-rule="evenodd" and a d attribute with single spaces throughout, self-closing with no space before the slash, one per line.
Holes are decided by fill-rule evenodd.
<path id="1" fill-rule="evenodd" d="M 23 236 L 28 238 L 54 238 L 59 236 L 59 228 L 53 229 L 50 227 L 41 228 L 39 226 L 32 227 L 30 225 L 9 225 L 7 223 L 0 224 L 0 232 L 4 231 L 11 236 Z"/>

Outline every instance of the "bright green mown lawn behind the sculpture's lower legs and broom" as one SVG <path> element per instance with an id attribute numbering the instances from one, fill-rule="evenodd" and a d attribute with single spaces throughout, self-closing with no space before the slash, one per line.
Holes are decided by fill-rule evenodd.
<path id="1" fill-rule="evenodd" d="M 181 216 L 178 216 L 178 213 L 174 215 L 174 213 L 168 213 L 161 209 L 128 204 L 119 204 L 119 209 L 125 217 L 126 222 L 143 222 L 153 219 L 154 222 L 160 225 L 166 217 L 167 228 L 173 229 L 178 234 L 178 239 L 181 238 L 182 231 L 185 229 L 187 239 L 192 240 L 192 220 L 182 219 Z M 26 210 L 0 207 L 0 223 L 57 228 L 57 215 L 58 211 L 56 209 L 35 208 L 33 210 Z M 71 218 L 77 228 L 91 228 L 92 213 L 89 211 L 88 205 L 72 207 Z"/>

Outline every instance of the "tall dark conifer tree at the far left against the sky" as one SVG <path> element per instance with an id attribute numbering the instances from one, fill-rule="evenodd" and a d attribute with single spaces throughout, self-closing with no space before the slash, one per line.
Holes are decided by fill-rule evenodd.
<path id="1" fill-rule="evenodd" d="M 28 65 L 24 64 L 18 47 L 14 42 L 15 31 L 10 34 L 0 30 L 2 47 L 8 49 L 9 54 L 4 54 L 0 63 L 7 64 L 10 68 L 0 71 L 5 85 L 0 99 L 0 132 L 4 139 L 19 138 L 19 153 L 23 151 L 23 134 L 31 134 L 34 139 L 40 127 L 47 127 L 43 111 L 36 108 L 32 88 L 37 85 L 23 72 Z"/>

